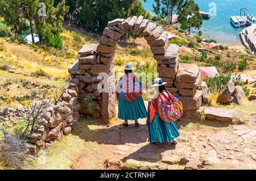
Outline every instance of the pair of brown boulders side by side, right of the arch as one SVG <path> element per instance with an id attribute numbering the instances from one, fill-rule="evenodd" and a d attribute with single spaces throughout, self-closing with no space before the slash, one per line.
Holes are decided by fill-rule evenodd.
<path id="1" fill-rule="evenodd" d="M 234 86 L 232 80 L 230 80 L 224 89 L 222 89 L 220 95 L 218 95 L 217 102 L 221 104 L 236 103 L 241 104 L 245 99 L 245 92 L 241 86 Z"/>

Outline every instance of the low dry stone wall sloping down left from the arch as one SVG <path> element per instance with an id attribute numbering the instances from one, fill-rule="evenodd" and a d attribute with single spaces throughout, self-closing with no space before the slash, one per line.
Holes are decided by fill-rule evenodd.
<path id="1" fill-rule="evenodd" d="M 62 140 L 71 133 L 72 126 L 80 118 L 77 95 L 80 81 L 73 78 L 69 87 L 56 105 L 48 107 L 40 117 L 34 131 L 27 137 L 27 148 L 35 155 L 38 149 L 49 149 L 55 146 L 57 140 Z"/>

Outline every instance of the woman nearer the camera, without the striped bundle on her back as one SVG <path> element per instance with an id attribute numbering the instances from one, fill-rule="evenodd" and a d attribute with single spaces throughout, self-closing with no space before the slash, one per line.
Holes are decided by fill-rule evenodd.
<path id="1" fill-rule="evenodd" d="M 159 144 L 163 142 L 172 142 L 172 144 L 177 144 L 176 138 L 179 137 L 180 134 L 176 123 L 174 121 L 167 123 L 160 119 L 158 114 L 158 99 L 160 96 L 163 95 L 162 98 L 165 99 L 165 102 L 170 100 L 170 96 L 168 95 L 164 85 L 166 85 L 166 82 L 163 82 L 160 78 L 155 79 L 155 84 L 152 85 L 152 87 L 158 87 L 159 94 L 156 99 L 152 99 L 151 101 L 148 133 L 152 144 Z"/>

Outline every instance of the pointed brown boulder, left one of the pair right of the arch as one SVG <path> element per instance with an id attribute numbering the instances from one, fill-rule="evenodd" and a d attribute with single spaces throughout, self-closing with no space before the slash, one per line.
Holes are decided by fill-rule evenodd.
<path id="1" fill-rule="evenodd" d="M 226 84 L 224 89 L 222 89 L 220 95 L 218 95 L 217 102 L 222 104 L 229 103 L 234 90 L 235 90 L 234 83 L 232 80 L 230 80 Z"/>

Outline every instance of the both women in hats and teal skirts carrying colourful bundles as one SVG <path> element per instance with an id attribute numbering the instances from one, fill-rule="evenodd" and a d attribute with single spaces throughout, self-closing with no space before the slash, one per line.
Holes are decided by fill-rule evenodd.
<path id="1" fill-rule="evenodd" d="M 142 84 L 133 74 L 131 64 L 126 64 L 122 69 L 125 74 L 120 78 L 117 85 L 118 118 L 124 120 L 123 125 L 128 127 L 128 120 L 134 120 L 138 127 L 138 119 L 147 117 L 146 107 L 142 99 Z M 166 82 L 155 79 L 152 87 L 156 88 L 158 95 L 151 100 L 150 119 L 148 133 L 152 144 L 172 142 L 177 144 L 179 137 L 175 121 L 182 115 L 182 104 L 166 90 Z M 158 89 L 157 89 L 158 88 Z"/>

